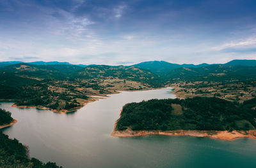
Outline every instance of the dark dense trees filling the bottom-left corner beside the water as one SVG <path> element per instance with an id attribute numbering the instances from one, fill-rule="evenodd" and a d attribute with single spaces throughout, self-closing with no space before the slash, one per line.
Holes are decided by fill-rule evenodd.
<path id="1" fill-rule="evenodd" d="M 0 131 L 0 167 L 16 168 L 58 168 L 56 163 L 42 163 L 36 158 L 28 157 L 28 149 L 17 139 L 9 139 L 8 136 Z"/>

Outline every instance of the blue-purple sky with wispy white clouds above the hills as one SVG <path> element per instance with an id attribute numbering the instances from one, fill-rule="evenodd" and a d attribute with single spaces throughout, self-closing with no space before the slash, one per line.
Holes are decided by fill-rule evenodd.
<path id="1" fill-rule="evenodd" d="M 256 59 L 255 0 L 0 0 L 0 61 Z"/>

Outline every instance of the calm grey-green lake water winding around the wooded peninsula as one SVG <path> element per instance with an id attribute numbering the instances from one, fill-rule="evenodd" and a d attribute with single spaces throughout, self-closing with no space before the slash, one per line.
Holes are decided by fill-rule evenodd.
<path id="1" fill-rule="evenodd" d="M 1 102 L 19 121 L 4 133 L 28 145 L 31 157 L 63 167 L 256 167 L 253 139 L 110 136 L 124 104 L 173 98 L 168 91 L 122 92 L 67 115 Z"/>

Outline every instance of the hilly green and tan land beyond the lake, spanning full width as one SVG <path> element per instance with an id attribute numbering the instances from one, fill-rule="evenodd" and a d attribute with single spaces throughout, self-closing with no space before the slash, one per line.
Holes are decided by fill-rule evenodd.
<path id="1" fill-rule="evenodd" d="M 14 101 L 15 107 L 67 113 L 97 101 L 95 96 L 172 86 L 180 98 L 206 96 L 243 102 L 255 97 L 256 90 L 256 67 L 244 64 L 244 60 L 199 66 L 163 61 L 134 66 L 8 62 L 0 67 L 0 99 Z"/>

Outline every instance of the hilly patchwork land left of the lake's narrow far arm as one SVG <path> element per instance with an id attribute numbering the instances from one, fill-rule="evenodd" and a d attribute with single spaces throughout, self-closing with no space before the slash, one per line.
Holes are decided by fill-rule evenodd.
<path id="1" fill-rule="evenodd" d="M 0 71 L 0 99 L 15 101 L 15 107 L 52 109 L 58 113 L 76 111 L 96 101 L 92 96 L 106 97 L 122 90 L 160 86 L 154 84 L 157 75 L 136 67 L 21 63 L 2 67 Z"/>

